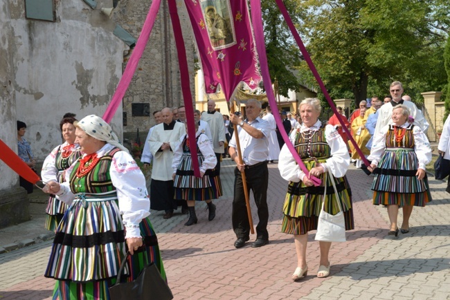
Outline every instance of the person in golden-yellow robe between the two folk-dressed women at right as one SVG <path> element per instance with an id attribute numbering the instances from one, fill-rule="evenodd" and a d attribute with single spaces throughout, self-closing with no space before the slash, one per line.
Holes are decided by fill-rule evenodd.
<path id="1" fill-rule="evenodd" d="M 366 122 L 367 122 L 367 116 L 366 116 L 366 106 L 361 107 L 359 109 L 360 114 L 357 118 L 354 118 L 351 129 L 352 129 L 352 136 L 354 138 L 354 141 L 357 142 L 357 145 L 359 149 L 363 152 L 365 156 L 368 156 L 370 154 L 370 150 L 367 149 L 366 144 L 370 140 L 370 133 L 366 128 Z M 359 156 L 359 153 L 354 148 L 353 143 L 349 142 L 350 150 L 352 151 L 352 159 L 357 160 L 356 166 L 357 168 L 361 168 L 362 165 L 362 159 Z"/>

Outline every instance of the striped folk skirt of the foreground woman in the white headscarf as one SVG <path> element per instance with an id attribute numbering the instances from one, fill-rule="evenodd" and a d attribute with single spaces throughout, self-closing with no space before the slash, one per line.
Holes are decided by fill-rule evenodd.
<path id="1" fill-rule="evenodd" d="M 165 279 L 158 239 L 149 218 L 139 224 L 143 247 L 129 257 L 125 274 L 135 279 L 155 263 Z M 53 299 L 109 299 L 127 246 L 114 200 L 75 200 L 57 227 L 44 276 L 57 279 Z"/>

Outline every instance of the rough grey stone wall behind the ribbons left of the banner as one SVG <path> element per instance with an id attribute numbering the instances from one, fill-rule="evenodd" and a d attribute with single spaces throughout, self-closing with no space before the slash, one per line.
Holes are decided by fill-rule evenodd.
<path id="1" fill-rule="evenodd" d="M 151 5 L 151 0 L 121 0 L 118 10 L 114 13 L 114 20 L 137 38 Z M 188 59 L 192 102 L 195 102 L 195 48 L 192 27 L 182 0 L 177 1 L 177 8 Z M 150 103 L 151 113 L 165 106 L 183 105 L 177 47 L 167 1 L 161 1 L 152 34 L 123 99 L 124 111 L 127 112 L 127 126 L 124 126 L 124 132 L 134 137 L 132 133 L 139 129 L 146 135 L 145 132 L 154 125 L 154 119 L 152 116 L 132 117 L 132 103 Z"/>

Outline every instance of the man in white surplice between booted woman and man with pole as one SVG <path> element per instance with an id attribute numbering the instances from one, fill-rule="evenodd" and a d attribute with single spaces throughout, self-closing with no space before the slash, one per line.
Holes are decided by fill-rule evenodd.
<path id="1" fill-rule="evenodd" d="M 215 102 L 213 100 L 208 101 L 208 111 L 201 114 L 201 120 L 208 122 L 211 134 L 213 135 L 213 148 L 215 156 L 217 157 L 217 165 L 215 169 L 220 174 L 220 158 L 224 153 L 225 138 L 225 126 L 224 117 L 222 113 L 215 110 Z"/>

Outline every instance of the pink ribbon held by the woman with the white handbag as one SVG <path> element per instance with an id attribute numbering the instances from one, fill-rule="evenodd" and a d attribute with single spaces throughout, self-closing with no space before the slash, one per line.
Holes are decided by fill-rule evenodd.
<path id="1" fill-rule="evenodd" d="M 289 140 L 289 136 L 283 129 L 284 127 L 282 126 L 280 113 L 278 112 L 275 96 L 273 95 L 272 82 L 269 75 L 269 66 L 267 64 L 266 45 L 264 44 L 264 30 L 262 28 L 260 0 L 251 0 L 251 20 L 253 23 L 253 31 L 255 33 L 255 44 L 256 48 L 258 49 L 258 55 L 260 59 L 262 80 L 264 82 L 264 87 L 266 88 L 267 98 L 269 99 L 269 104 L 272 109 L 275 122 L 278 126 L 278 129 L 281 129 L 280 133 L 282 135 L 282 138 L 283 140 L 285 140 L 285 143 L 289 148 L 289 151 L 291 151 L 292 156 L 295 158 L 298 167 L 300 167 L 300 169 L 306 174 L 306 176 L 308 176 L 309 180 L 312 180 L 312 182 L 314 182 L 314 185 L 316 186 L 321 185 L 320 179 L 314 176 L 309 176 L 308 169 L 305 167 L 305 164 L 303 164 L 303 161 L 301 160 L 294 145 L 292 144 L 291 140 Z"/>

